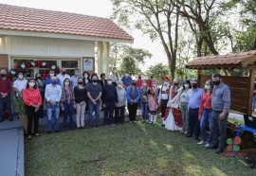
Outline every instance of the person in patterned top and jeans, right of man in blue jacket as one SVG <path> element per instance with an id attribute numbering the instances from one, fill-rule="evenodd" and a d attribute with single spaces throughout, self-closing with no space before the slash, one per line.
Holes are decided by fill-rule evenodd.
<path id="1" fill-rule="evenodd" d="M 142 87 L 140 88 L 140 108 L 142 112 L 142 121 L 148 121 L 149 115 L 148 115 L 148 82 L 147 80 L 143 80 Z"/>

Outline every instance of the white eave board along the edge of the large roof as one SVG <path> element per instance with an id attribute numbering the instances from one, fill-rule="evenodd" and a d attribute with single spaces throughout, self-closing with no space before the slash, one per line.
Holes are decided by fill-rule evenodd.
<path id="1" fill-rule="evenodd" d="M 82 41 L 94 41 L 94 42 L 124 43 L 124 44 L 134 43 L 134 40 L 128 40 L 128 39 L 125 40 L 125 39 L 106 38 L 106 37 L 82 36 L 82 35 L 50 33 L 50 32 L 34 32 L 34 31 L 24 31 L 24 30 L 9 30 L 9 29 L 0 29 L 0 35 L 43 37 L 43 38 L 82 40 Z"/>

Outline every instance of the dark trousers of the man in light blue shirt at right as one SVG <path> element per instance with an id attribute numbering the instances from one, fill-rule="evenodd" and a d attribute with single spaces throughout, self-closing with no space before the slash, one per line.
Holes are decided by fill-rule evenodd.
<path id="1" fill-rule="evenodd" d="M 190 132 L 189 134 L 194 133 L 194 138 L 198 139 L 199 137 L 199 132 L 200 132 L 200 121 L 198 120 L 198 111 L 199 108 L 197 109 L 191 109 L 189 110 L 189 128 Z"/>

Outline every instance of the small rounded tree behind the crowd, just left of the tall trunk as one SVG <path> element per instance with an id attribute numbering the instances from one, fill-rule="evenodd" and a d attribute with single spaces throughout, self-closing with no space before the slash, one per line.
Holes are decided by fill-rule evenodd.
<path id="1" fill-rule="evenodd" d="M 163 63 L 155 64 L 154 66 L 150 66 L 146 71 L 147 76 L 154 75 L 154 78 L 157 80 L 162 80 L 164 76 L 170 74 L 168 65 L 164 65 Z"/>

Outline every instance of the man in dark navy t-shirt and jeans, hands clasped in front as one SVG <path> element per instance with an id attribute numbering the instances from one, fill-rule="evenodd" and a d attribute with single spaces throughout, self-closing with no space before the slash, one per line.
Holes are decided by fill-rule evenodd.
<path id="1" fill-rule="evenodd" d="M 101 106 L 101 84 L 98 83 L 99 78 L 97 74 L 92 75 L 92 83 L 86 86 L 88 107 L 89 107 L 89 126 L 93 126 L 93 113 L 96 115 L 96 127 L 100 127 L 100 106 Z"/>

